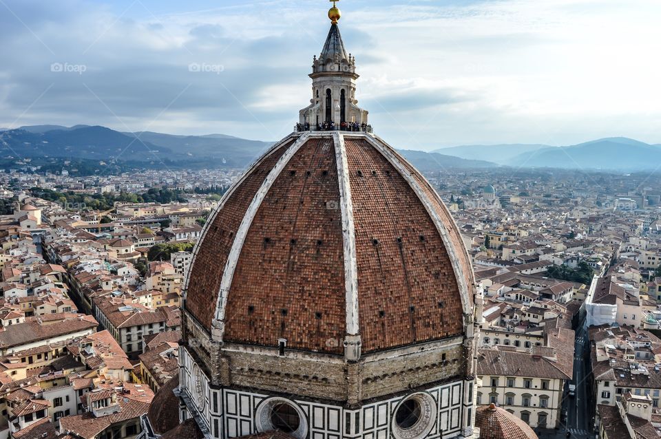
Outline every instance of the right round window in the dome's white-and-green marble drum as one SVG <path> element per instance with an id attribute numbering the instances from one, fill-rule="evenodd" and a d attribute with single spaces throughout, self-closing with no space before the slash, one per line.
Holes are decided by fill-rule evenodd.
<path id="1" fill-rule="evenodd" d="M 436 401 L 426 393 L 412 394 L 397 405 L 392 433 L 397 439 L 426 438 L 436 422 Z"/>

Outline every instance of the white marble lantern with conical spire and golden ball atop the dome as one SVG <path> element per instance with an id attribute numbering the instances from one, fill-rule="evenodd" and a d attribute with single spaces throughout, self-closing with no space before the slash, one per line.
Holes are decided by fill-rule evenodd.
<path id="1" fill-rule="evenodd" d="M 312 99 L 310 105 L 300 111 L 301 125 L 319 127 L 332 125 L 342 127 L 344 123 L 357 123 L 367 125 L 368 112 L 357 106 L 356 58 L 347 54 L 342 35 L 339 33 L 341 12 L 335 6 L 328 11 L 330 30 L 322 53 L 313 59 L 312 73 Z"/>

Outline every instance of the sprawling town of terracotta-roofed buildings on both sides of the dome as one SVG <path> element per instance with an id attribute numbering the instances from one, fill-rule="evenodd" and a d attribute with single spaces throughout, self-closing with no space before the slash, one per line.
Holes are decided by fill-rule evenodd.
<path id="1" fill-rule="evenodd" d="M 0 438 L 140 437 L 178 375 L 182 289 L 222 195 L 195 189 L 226 188 L 240 171 L 36 171 L 0 173 Z M 540 435 L 656 437 L 661 192 L 635 176 L 427 177 L 479 283 L 476 403 Z M 154 188 L 176 200 L 118 200 Z M 101 211 L 52 193 L 114 201 Z"/>

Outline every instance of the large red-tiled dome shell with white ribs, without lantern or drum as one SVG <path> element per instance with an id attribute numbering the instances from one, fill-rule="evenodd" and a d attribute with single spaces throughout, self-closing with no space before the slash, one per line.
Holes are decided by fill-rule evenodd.
<path id="1" fill-rule="evenodd" d="M 472 268 L 430 184 L 376 136 L 295 133 L 229 190 L 185 308 L 222 341 L 343 354 L 461 336 Z"/>

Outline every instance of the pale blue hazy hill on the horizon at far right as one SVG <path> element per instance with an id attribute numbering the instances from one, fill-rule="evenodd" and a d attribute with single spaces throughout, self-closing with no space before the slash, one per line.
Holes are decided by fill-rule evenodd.
<path id="1" fill-rule="evenodd" d="M 629 138 L 605 138 L 571 147 L 549 147 L 512 158 L 516 167 L 640 171 L 661 164 L 661 147 Z"/>

